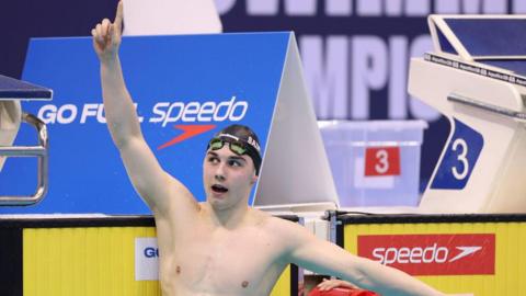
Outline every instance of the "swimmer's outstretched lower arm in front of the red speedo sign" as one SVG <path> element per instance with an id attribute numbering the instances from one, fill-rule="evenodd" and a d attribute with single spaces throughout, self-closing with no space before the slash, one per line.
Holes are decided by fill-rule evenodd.
<path id="1" fill-rule="evenodd" d="M 289 232 L 288 260 L 307 270 L 341 277 L 380 295 L 443 295 L 402 271 L 351 254 L 342 248 L 317 239 L 304 227 L 283 227 Z"/>

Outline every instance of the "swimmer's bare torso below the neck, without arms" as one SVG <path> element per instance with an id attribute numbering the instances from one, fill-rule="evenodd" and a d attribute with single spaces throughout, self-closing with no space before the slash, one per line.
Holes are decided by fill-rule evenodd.
<path id="1" fill-rule="evenodd" d="M 237 229 L 199 217 L 185 227 L 158 221 L 163 296 L 268 295 L 286 266 L 281 219 L 254 214 Z"/>

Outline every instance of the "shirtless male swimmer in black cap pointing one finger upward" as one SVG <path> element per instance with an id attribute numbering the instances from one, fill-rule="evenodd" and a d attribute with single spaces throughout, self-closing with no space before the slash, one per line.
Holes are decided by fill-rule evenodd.
<path id="1" fill-rule="evenodd" d="M 227 127 L 208 144 L 203 162 L 206 202 L 197 203 L 184 184 L 163 171 L 142 137 L 118 58 L 122 23 L 119 3 L 114 23 L 105 19 L 91 33 L 101 62 L 107 126 L 135 190 L 156 219 L 162 295 L 264 296 L 289 263 L 386 296 L 442 295 L 401 271 L 355 257 L 297 224 L 249 207 L 261 163 L 258 139 L 243 126 Z"/>

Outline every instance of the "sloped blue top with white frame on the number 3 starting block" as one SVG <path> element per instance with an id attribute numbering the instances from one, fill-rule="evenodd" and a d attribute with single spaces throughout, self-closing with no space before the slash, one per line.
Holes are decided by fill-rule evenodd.
<path id="1" fill-rule="evenodd" d="M 430 15 L 428 25 L 434 44 L 432 56 L 450 58 L 446 64 L 454 66 L 458 66 L 455 61 L 469 62 L 471 71 L 489 71 L 489 77 L 525 86 L 526 16 Z M 432 59 L 430 55 L 426 58 Z"/>

